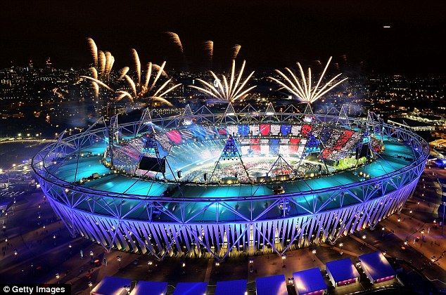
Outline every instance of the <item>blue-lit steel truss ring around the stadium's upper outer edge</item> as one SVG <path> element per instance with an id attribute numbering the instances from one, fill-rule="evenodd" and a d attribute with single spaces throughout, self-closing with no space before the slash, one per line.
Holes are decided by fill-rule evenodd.
<path id="1" fill-rule="evenodd" d="M 345 113 L 344 113 L 345 114 Z M 295 107 L 288 107 L 283 112 L 257 112 L 254 109 L 247 109 L 245 107 L 241 112 L 224 112 L 214 114 L 208 110 L 207 107 L 201 107 L 196 112 L 191 112 L 190 107 L 186 107 L 183 114 L 171 117 L 161 117 L 158 112 L 152 111 L 148 112 L 148 117 L 141 117 L 139 121 L 130 122 L 125 124 L 120 124 L 119 128 L 123 133 L 127 133 L 130 136 L 135 136 L 139 133 L 139 129 L 141 126 L 146 125 L 147 122 L 151 124 L 155 124 L 157 126 L 163 126 L 165 129 L 178 129 L 181 124 L 183 124 L 184 120 L 193 119 L 194 122 L 198 124 L 255 124 L 259 122 L 269 122 L 269 123 L 286 123 L 290 122 L 290 120 L 295 120 L 295 122 L 302 122 L 304 117 L 311 116 L 316 122 L 321 124 L 324 123 L 333 123 L 337 122 L 340 119 L 340 114 L 313 114 L 313 113 L 302 113 L 298 112 Z M 390 138 L 397 138 L 400 142 L 405 145 L 409 145 L 414 151 L 414 160 L 402 167 L 401 169 L 396 169 L 395 171 L 391 171 L 390 173 L 385 173 L 381 176 L 369 178 L 367 180 L 350 183 L 348 185 L 336 185 L 329 188 L 321 188 L 316 190 L 307 190 L 307 191 L 298 191 L 298 192 L 285 192 L 281 195 L 239 195 L 239 196 L 230 196 L 230 197 L 194 197 L 194 196 L 181 196 L 179 197 L 168 197 L 168 196 L 155 196 L 155 195 L 136 195 L 136 194 L 127 194 L 127 193 L 119 193 L 119 192 L 110 192 L 106 190 L 98 190 L 93 188 L 87 188 L 84 185 L 78 185 L 77 183 L 72 183 L 69 181 L 64 181 L 58 176 L 54 175 L 49 166 L 53 163 L 53 158 L 55 155 L 60 153 L 61 150 L 64 150 L 65 155 L 70 155 L 73 152 L 79 152 L 84 147 L 84 142 L 91 140 L 91 138 L 103 137 L 104 134 L 108 131 L 108 126 L 103 126 L 101 128 L 94 128 L 98 124 L 96 122 L 93 126 L 91 126 L 87 131 L 83 133 L 79 133 L 75 136 L 68 136 L 66 138 L 63 135 L 60 136 L 60 139 L 57 143 L 52 143 L 44 147 L 36 156 L 32 159 L 32 169 L 37 174 L 39 178 L 42 179 L 45 183 L 49 185 L 56 185 L 56 187 L 63 188 L 65 191 L 70 190 L 72 192 L 79 192 L 82 194 L 89 194 L 95 196 L 103 196 L 103 197 L 111 197 L 117 199 L 134 199 L 136 201 L 148 201 L 151 202 L 229 202 L 229 201 L 260 201 L 267 199 L 278 199 L 284 197 L 299 197 L 305 195 L 319 195 L 326 194 L 327 192 L 335 191 L 335 190 L 348 190 L 358 187 L 364 187 L 369 185 L 379 185 L 383 181 L 386 181 L 395 176 L 402 175 L 403 173 L 407 173 L 416 167 L 423 166 L 426 163 L 426 159 L 428 157 L 428 144 L 425 140 L 423 140 L 420 136 L 416 135 L 416 133 L 412 132 L 409 129 L 397 128 L 395 126 L 384 124 L 381 122 L 381 119 L 376 117 L 373 113 L 369 114 L 369 118 L 360 119 L 360 118 L 350 118 L 350 117 L 342 117 L 344 122 L 348 124 L 355 124 L 356 126 L 364 126 L 365 124 L 381 124 L 383 128 L 383 133 Z M 252 121 L 255 120 L 255 121 Z M 106 125 L 105 122 L 103 122 Z M 345 123 L 344 123 L 345 124 Z M 67 152 L 70 151 L 70 152 Z M 305 180 L 300 180 L 305 181 Z M 244 184 L 240 184 L 244 185 Z M 256 184 L 253 184 L 257 186 Z"/>

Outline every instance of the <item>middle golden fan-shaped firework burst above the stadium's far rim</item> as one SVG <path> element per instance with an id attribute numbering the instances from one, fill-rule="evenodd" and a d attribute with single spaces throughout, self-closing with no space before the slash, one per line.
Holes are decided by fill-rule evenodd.
<path id="1" fill-rule="evenodd" d="M 222 74 L 222 81 L 217 77 L 217 75 L 209 71 L 212 77 L 214 78 L 214 85 L 203 81 L 202 79 L 196 79 L 201 84 L 203 84 L 203 87 L 198 86 L 189 86 L 193 89 L 197 89 L 198 91 L 202 93 L 206 93 L 213 98 L 217 98 L 217 100 L 227 101 L 227 102 L 234 102 L 238 98 L 241 98 L 243 96 L 246 96 L 249 91 L 255 88 L 255 86 L 251 86 L 248 89 L 244 89 L 246 84 L 248 83 L 249 79 L 253 76 L 254 72 L 251 72 L 248 77 L 241 82 L 241 78 L 243 76 L 243 70 L 245 70 L 246 61 L 243 60 L 243 64 L 241 65 L 241 69 L 236 75 L 236 62 L 235 60 L 232 60 L 232 67 L 231 67 L 231 76 L 229 79 L 227 79 L 224 74 Z M 234 82 L 235 80 L 235 82 Z"/>

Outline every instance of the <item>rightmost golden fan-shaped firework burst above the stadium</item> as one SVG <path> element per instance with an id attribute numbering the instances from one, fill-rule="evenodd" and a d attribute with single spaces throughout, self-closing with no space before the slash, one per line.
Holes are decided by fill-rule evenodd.
<path id="1" fill-rule="evenodd" d="M 284 81 L 281 81 L 274 77 L 270 77 L 270 79 L 272 79 L 277 84 L 282 86 L 284 89 L 292 93 L 303 103 L 314 103 L 314 101 L 321 98 L 321 96 L 324 96 L 325 93 L 331 91 L 331 89 L 335 88 L 343 81 L 347 80 L 347 78 L 344 78 L 341 79 L 340 81 L 336 81 L 336 79 L 341 75 L 337 74 L 330 81 L 328 81 L 326 84 L 322 85 L 319 88 L 319 85 L 321 84 L 322 78 L 324 78 L 324 74 L 327 68 L 329 67 L 330 62 L 331 62 L 331 57 L 329 58 L 329 61 L 326 63 L 325 68 L 322 71 L 322 74 L 319 77 L 316 86 L 314 87 L 312 87 L 310 67 L 308 68 L 308 75 L 307 77 L 305 77 L 305 73 L 300 63 L 297 63 L 300 72 L 300 79 L 298 79 L 298 77 L 296 77 L 295 74 L 288 67 L 286 67 L 285 70 L 291 75 L 291 79 L 293 79 L 293 81 L 290 78 L 288 78 L 286 74 L 283 74 L 283 72 L 279 70 L 276 70 L 276 72 L 284 79 Z"/>

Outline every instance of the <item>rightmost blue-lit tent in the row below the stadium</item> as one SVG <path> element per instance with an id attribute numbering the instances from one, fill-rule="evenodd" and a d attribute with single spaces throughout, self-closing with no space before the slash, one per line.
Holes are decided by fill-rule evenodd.
<path id="1" fill-rule="evenodd" d="M 363 254 L 359 256 L 359 261 L 362 269 L 372 282 L 396 275 L 392 265 L 380 251 Z"/>

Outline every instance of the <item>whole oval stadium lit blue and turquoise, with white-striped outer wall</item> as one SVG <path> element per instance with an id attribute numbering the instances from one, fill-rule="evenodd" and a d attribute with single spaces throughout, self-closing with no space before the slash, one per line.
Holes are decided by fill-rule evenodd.
<path id="1" fill-rule="evenodd" d="M 203 106 L 62 134 L 32 161 L 73 236 L 165 256 L 276 253 L 374 228 L 412 195 L 428 144 L 369 112 Z"/>

